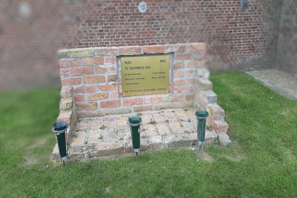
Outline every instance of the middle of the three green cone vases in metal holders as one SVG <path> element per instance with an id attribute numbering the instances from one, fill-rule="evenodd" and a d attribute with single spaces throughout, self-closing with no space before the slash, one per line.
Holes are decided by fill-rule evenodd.
<path id="1" fill-rule="evenodd" d="M 134 153 L 136 156 L 140 156 L 140 124 L 142 123 L 142 119 L 138 116 L 131 117 L 128 119 L 128 124 L 131 128 L 131 138 L 132 138 L 132 146 L 133 146 L 133 159 Z"/>

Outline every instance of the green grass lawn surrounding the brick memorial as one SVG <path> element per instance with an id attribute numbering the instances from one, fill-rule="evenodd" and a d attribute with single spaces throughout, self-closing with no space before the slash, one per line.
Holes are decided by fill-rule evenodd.
<path id="1" fill-rule="evenodd" d="M 207 157 L 173 148 L 63 169 L 50 161 L 59 88 L 0 93 L 0 197 L 297 197 L 297 101 L 242 72 L 211 81 L 228 148 L 217 141 Z"/>

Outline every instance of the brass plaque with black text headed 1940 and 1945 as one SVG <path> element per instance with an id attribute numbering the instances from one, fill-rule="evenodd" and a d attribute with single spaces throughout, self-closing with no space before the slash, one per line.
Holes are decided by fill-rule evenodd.
<path id="1" fill-rule="evenodd" d="M 169 56 L 122 57 L 123 96 L 167 94 Z"/>

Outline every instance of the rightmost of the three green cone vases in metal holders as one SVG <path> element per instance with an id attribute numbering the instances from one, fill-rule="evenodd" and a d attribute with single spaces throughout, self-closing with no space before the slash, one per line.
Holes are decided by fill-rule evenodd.
<path id="1" fill-rule="evenodd" d="M 195 116 L 197 117 L 197 148 L 201 145 L 201 150 L 203 151 L 203 145 L 205 144 L 205 127 L 206 118 L 209 116 L 207 111 L 196 111 Z"/>

